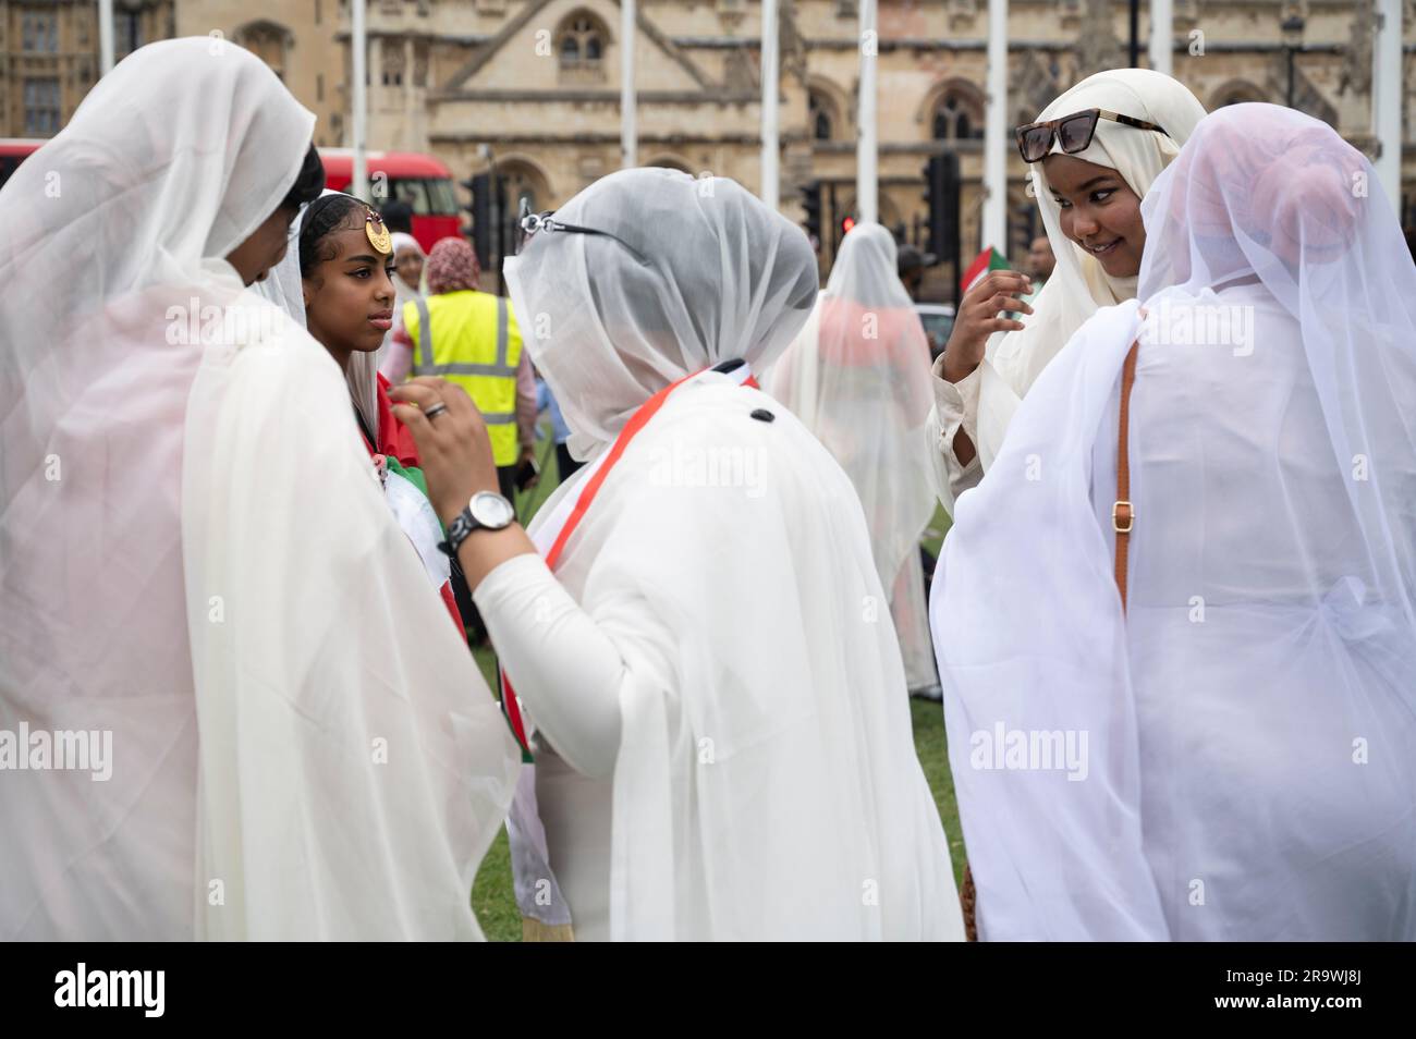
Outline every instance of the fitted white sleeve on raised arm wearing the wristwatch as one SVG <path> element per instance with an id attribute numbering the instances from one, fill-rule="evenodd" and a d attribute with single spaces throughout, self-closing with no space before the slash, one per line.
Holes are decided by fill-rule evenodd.
<path id="1" fill-rule="evenodd" d="M 507 559 L 472 595 L 537 728 L 576 771 L 610 776 L 627 668 L 538 555 Z"/>

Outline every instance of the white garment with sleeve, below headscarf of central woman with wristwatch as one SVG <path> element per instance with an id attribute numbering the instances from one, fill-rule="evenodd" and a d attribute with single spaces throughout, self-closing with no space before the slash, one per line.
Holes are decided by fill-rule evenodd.
<path id="1" fill-rule="evenodd" d="M 674 450 L 709 443 L 762 453 L 766 493 L 675 483 Z M 578 937 L 961 937 L 871 597 L 845 474 L 772 398 L 715 374 L 632 442 L 554 578 L 528 555 L 481 582 L 556 750 L 537 794 Z"/>

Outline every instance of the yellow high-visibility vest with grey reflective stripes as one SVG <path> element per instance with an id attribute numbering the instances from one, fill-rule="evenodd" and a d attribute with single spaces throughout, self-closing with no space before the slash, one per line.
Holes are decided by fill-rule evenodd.
<path id="1" fill-rule="evenodd" d="M 413 375 L 440 375 L 466 389 L 487 423 L 491 457 L 514 466 L 521 331 L 510 300 L 470 289 L 419 297 L 404 304 L 404 328 Z"/>

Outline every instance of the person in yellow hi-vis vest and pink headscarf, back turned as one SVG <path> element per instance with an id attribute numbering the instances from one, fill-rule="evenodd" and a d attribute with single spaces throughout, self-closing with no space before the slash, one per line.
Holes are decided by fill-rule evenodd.
<path id="1" fill-rule="evenodd" d="M 396 341 L 411 351 L 413 375 L 438 375 L 467 391 L 491 435 L 501 493 L 513 498 L 517 469 L 535 457 L 517 419 L 521 331 L 511 300 L 480 292 L 479 275 L 466 239 L 436 242 L 428 253 L 428 296 L 404 304 Z"/>

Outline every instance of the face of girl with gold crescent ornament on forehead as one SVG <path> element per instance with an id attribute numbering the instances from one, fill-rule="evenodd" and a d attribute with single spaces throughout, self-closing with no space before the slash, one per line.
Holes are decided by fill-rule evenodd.
<path id="1" fill-rule="evenodd" d="M 320 255 L 334 251 L 304 279 L 304 323 L 310 334 L 344 361 L 354 352 L 371 352 L 394 324 L 394 258 L 379 255 L 368 242 L 362 222 L 340 228 L 320 242 Z"/>

